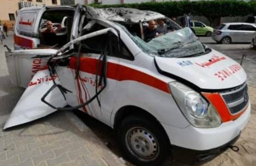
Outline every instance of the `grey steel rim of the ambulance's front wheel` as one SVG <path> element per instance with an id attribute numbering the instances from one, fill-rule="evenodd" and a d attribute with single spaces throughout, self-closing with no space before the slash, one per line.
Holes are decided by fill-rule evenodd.
<path id="1" fill-rule="evenodd" d="M 125 135 L 125 144 L 133 156 L 144 162 L 152 161 L 159 155 L 158 141 L 146 128 L 130 128 Z"/>

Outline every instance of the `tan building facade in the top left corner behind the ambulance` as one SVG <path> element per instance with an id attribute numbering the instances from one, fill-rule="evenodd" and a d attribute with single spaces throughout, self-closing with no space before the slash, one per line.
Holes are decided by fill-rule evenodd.
<path id="1" fill-rule="evenodd" d="M 18 10 L 21 8 L 53 5 L 60 5 L 60 0 L 0 0 L 1 24 L 6 23 L 8 25 L 8 29 L 12 30 Z"/>

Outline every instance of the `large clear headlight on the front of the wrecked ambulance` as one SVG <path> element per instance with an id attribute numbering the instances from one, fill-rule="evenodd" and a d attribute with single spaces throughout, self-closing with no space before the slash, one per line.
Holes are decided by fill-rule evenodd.
<path id="1" fill-rule="evenodd" d="M 169 83 L 171 94 L 186 119 L 195 127 L 212 128 L 221 124 L 216 109 L 200 93 L 174 81 Z"/>

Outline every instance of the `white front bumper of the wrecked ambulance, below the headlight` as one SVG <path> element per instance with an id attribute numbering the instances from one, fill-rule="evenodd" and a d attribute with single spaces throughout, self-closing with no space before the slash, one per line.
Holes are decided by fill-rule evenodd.
<path id="1" fill-rule="evenodd" d="M 192 125 L 186 128 L 176 128 L 162 124 L 170 143 L 174 146 L 190 150 L 210 150 L 227 144 L 236 138 L 249 122 L 251 105 L 236 120 L 222 123 L 216 128 L 196 128 Z"/>

